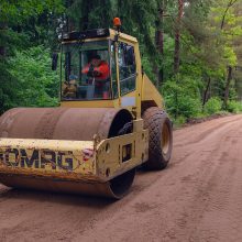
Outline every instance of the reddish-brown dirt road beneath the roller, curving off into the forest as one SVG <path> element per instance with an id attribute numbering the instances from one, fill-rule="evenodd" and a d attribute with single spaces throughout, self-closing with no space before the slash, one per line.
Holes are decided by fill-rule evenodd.
<path id="1" fill-rule="evenodd" d="M 242 116 L 175 131 L 163 172 L 105 199 L 0 185 L 0 241 L 242 241 Z"/>

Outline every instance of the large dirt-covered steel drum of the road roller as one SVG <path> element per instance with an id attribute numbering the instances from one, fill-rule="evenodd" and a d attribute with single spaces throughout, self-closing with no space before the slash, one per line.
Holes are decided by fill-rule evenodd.
<path id="1" fill-rule="evenodd" d="M 131 113 L 114 108 L 16 108 L 0 117 L 0 138 L 92 141 L 117 136 Z M 132 185 L 135 170 L 108 183 L 55 180 L 0 174 L 0 182 L 9 187 L 43 189 L 74 194 L 121 198 Z"/>

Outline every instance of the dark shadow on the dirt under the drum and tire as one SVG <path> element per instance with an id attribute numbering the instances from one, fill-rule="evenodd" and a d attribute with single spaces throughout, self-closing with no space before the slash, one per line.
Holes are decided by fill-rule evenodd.
<path id="1" fill-rule="evenodd" d="M 147 189 L 154 183 L 156 183 L 165 170 L 160 172 L 147 172 L 141 168 L 138 169 L 134 184 L 131 186 L 129 194 L 121 200 L 114 200 L 111 198 L 101 198 L 97 196 L 85 196 L 85 195 L 73 195 L 73 194 L 59 194 L 43 190 L 32 189 L 19 189 L 8 188 L 0 185 L 0 204 L 4 200 L 16 199 L 22 201 L 36 201 L 36 202 L 50 202 L 52 206 L 55 205 L 69 205 L 76 207 L 88 207 L 102 209 L 117 202 L 122 205 L 129 202 L 143 190 Z"/>

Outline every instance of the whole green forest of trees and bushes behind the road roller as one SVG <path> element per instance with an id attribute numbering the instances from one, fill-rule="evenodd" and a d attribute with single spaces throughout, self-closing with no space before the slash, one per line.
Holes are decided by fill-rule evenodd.
<path id="1" fill-rule="evenodd" d="M 63 33 L 113 28 L 114 16 L 177 123 L 242 112 L 242 0 L 1 0 L 0 113 L 58 106 Z"/>

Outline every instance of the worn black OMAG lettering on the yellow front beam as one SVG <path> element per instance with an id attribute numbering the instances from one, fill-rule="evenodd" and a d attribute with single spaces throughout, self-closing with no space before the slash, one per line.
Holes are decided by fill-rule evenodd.
<path id="1" fill-rule="evenodd" d="M 50 150 L 7 148 L 0 151 L 0 162 L 11 167 L 73 170 L 73 152 Z"/>

